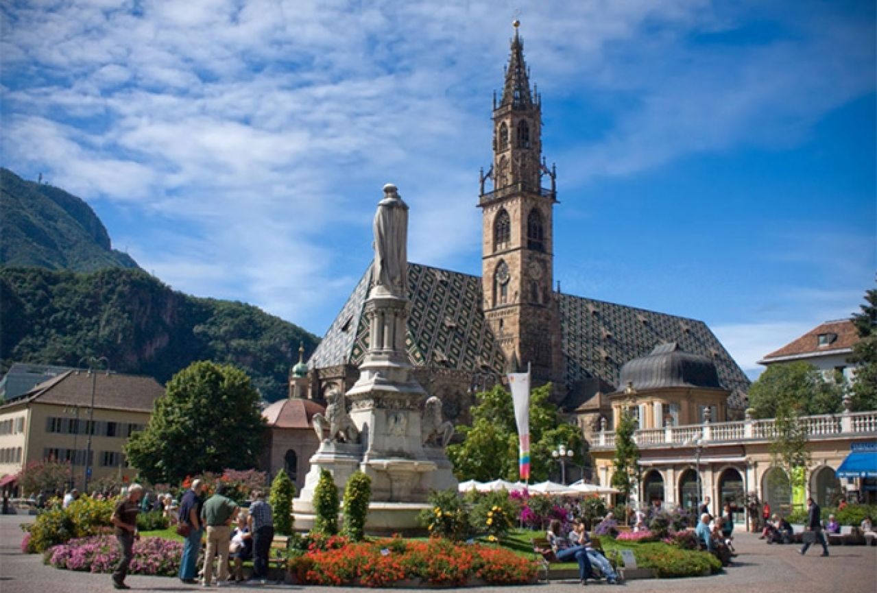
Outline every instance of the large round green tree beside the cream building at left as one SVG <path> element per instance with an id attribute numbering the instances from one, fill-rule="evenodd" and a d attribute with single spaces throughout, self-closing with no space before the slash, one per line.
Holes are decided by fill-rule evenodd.
<path id="1" fill-rule="evenodd" d="M 155 400 L 146 430 L 135 432 L 125 455 L 149 482 L 252 468 L 259 460 L 265 420 L 246 374 L 230 365 L 194 362 Z"/>

